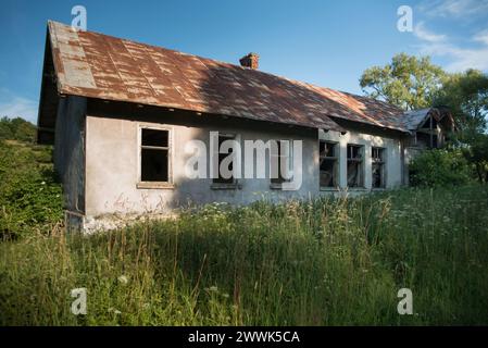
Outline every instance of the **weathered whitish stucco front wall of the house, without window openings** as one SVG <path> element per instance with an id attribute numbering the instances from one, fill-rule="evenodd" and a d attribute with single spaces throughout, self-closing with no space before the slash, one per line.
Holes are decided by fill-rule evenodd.
<path id="1" fill-rule="evenodd" d="M 172 176 L 174 188 L 138 188 L 138 132 L 140 126 L 170 127 L 172 129 Z M 121 120 L 87 115 L 86 120 L 86 215 L 99 216 L 112 213 L 161 213 L 172 208 L 189 203 L 229 202 L 233 204 L 249 203 L 267 198 L 271 200 L 291 197 L 313 197 L 328 195 L 321 191 L 318 183 L 318 138 L 337 141 L 340 145 L 340 186 L 346 187 L 347 144 L 365 146 L 363 189 L 371 189 L 371 146 L 386 149 L 386 187 L 401 185 L 400 140 L 383 136 L 373 136 L 348 132 L 308 132 L 295 135 L 291 130 L 273 130 L 272 125 L 239 128 L 230 126 L 182 126 L 151 122 Z M 212 179 L 188 179 L 184 167 L 190 154 L 184 149 L 187 141 L 200 139 L 209 146 L 210 130 L 234 133 L 238 135 L 243 148 L 243 140 L 296 139 L 303 140 L 302 185 L 297 191 L 281 191 L 270 188 L 270 179 L 239 179 L 237 189 L 212 189 Z M 242 163 L 243 163 L 242 153 Z M 210 166 L 210 161 L 208 162 Z"/>

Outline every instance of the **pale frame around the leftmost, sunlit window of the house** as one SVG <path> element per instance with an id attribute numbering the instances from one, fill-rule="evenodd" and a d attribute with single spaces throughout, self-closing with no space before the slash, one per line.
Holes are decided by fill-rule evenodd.
<path id="1" fill-rule="evenodd" d="M 142 145 L 142 129 L 165 130 L 167 132 L 167 147 L 154 147 Z M 167 150 L 167 182 L 143 182 L 142 181 L 142 149 Z M 137 126 L 137 188 L 161 189 L 174 188 L 173 184 L 173 127 L 167 125 L 138 124 Z"/>

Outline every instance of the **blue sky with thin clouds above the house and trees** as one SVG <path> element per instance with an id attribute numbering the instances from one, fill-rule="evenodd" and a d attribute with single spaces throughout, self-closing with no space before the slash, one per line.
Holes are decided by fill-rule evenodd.
<path id="1" fill-rule="evenodd" d="M 488 71 L 488 0 L 2 0 L 0 115 L 36 121 L 46 23 L 71 24 L 77 4 L 88 30 L 232 63 L 253 51 L 262 71 L 355 94 L 365 69 L 398 52 Z M 413 32 L 397 29 L 400 5 Z"/>

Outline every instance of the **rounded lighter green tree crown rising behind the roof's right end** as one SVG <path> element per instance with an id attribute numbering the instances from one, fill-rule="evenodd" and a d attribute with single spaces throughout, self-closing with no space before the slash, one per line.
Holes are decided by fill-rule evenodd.
<path id="1" fill-rule="evenodd" d="M 372 98 L 413 110 L 431 105 L 446 77 L 442 69 L 433 64 L 428 57 L 399 53 L 385 66 L 366 69 L 360 85 Z"/>

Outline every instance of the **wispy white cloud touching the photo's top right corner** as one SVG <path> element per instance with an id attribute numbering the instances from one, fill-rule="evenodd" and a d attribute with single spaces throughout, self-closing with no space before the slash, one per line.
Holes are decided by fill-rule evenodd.
<path id="1" fill-rule="evenodd" d="M 430 16 L 461 18 L 488 13 L 488 0 L 429 0 L 417 9 Z"/>

